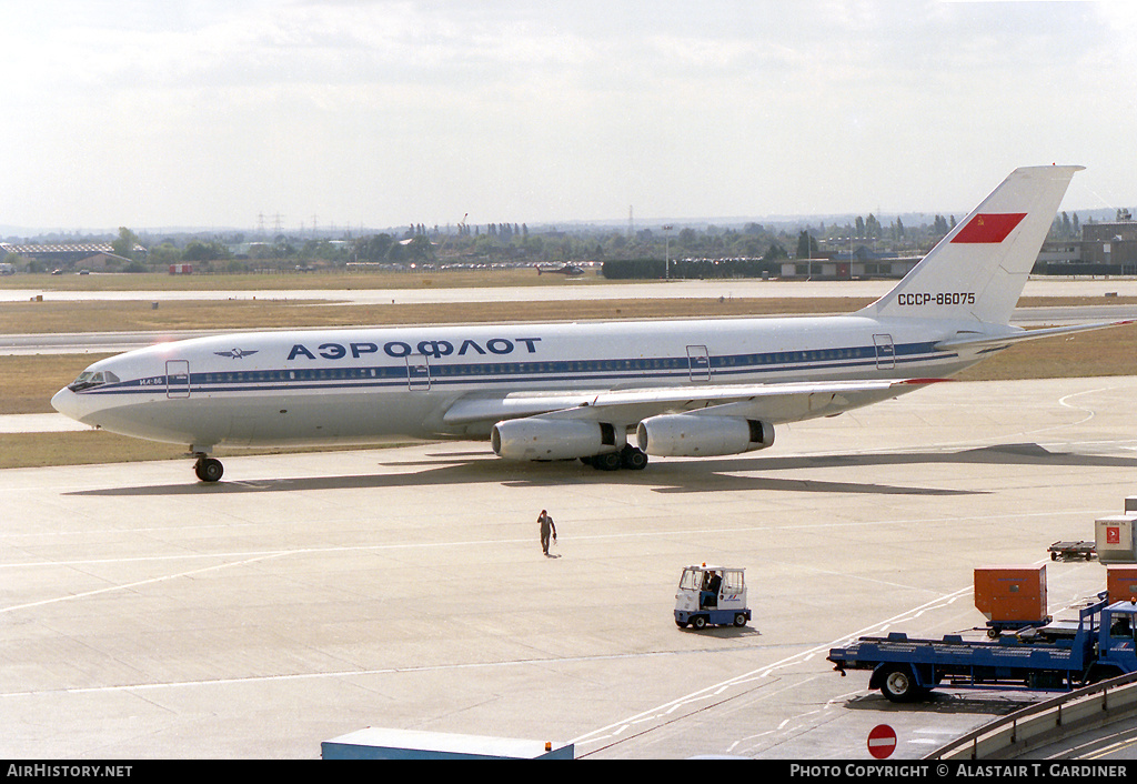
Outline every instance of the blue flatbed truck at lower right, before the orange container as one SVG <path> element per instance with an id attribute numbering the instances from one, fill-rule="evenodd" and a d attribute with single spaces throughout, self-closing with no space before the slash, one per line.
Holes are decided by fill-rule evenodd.
<path id="1" fill-rule="evenodd" d="M 870 688 L 912 702 L 937 686 L 1071 691 L 1137 671 L 1137 604 L 1109 604 L 1104 594 L 1079 610 L 1078 622 L 1047 624 L 997 639 L 908 639 L 901 633 L 861 637 L 829 651 L 841 676 L 872 670 Z"/>

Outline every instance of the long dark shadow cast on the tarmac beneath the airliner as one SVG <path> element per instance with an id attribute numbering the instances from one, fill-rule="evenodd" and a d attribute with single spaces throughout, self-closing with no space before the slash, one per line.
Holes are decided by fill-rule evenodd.
<path id="1" fill-rule="evenodd" d="M 1071 465 L 1078 468 L 1137 468 L 1137 457 L 1051 452 L 1038 444 L 1004 444 L 960 452 L 880 452 L 822 454 L 791 457 L 732 456 L 720 460 L 654 462 L 645 471 L 597 471 L 578 461 L 518 463 L 485 452 L 442 452 L 426 460 L 381 463 L 375 473 L 280 479 L 234 479 L 216 484 L 193 480 L 176 485 L 147 485 L 77 490 L 75 496 L 161 496 L 202 493 L 272 493 L 329 489 L 382 489 L 496 482 L 506 487 L 563 487 L 619 482 L 650 487 L 657 493 L 711 490 L 782 490 L 791 493 L 855 493 L 870 495 L 981 495 L 985 490 L 944 489 L 928 486 L 786 478 L 774 474 L 806 469 L 885 465 Z M 417 471 L 384 473 L 383 467 Z M 739 476 L 746 472 L 747 476 Z M 755 476 L 758 474 L 758 476 Z"/>

